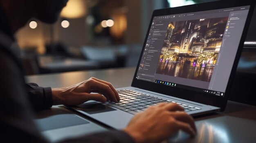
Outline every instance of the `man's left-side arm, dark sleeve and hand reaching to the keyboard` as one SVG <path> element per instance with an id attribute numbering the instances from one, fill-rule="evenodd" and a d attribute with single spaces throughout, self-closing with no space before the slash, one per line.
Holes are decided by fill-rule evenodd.
<path id="1" fill-rule="evenodd" d="M 112 84 L 94 77 L 64 88 L 44 88 L 35 83 L 26 84 L 26 88 L 29 101 L 36 111 L 50 108 L 52 105 L 79 105 L 89 100 L 99 102 L 120 101 L 119 95 Z M 91 92 L 99 94 L 91 94 Z"/>

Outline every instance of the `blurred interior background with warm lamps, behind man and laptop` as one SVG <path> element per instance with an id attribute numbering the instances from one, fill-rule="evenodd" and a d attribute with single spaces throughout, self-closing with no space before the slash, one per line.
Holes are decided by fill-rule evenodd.
<path id="1" fill-rule="evenodd" d="M 135 67 L 154 9 L 209 1 L 214 0 L 69 0 L 55 24 L 31 19 L 16 34 L 25 73 Z M 255 27 L 240 61 L 242 70 L 255 72 L 255 44 L 249 41 L 256 41 Z"/>

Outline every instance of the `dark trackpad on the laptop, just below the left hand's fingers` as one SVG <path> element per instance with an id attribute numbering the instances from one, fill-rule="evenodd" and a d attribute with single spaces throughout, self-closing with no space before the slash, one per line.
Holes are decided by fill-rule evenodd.
<path id="1" fill-rule="evenodd" d="M 88 114 L 97 114 L 102 112 L 115 111 L 115 109 L 97 102 L 83 103 L 79 106 L 76 106 L 76 109 L 87 112 Z"/>

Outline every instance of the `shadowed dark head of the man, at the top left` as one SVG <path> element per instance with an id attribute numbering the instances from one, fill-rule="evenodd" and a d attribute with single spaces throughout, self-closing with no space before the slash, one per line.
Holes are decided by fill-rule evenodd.
<path id="1" fill-rule="evenodd" d="M 2 9 L 15 33 L 31 18 L 42 22 L 54 23 L 58 20 L 68 0 L 0 0 Z"/>

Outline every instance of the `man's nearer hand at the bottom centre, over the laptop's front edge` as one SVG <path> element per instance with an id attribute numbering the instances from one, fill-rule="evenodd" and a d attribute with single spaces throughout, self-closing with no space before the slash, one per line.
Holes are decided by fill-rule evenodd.
<path id="1" fill-rule="evenodd" d="M 124 132 L 132 136 L 136 143 L 159 143 L 179 130 L 195 136 L 194 120 L 183 111 L 175 103 L 151 106 L 145 112 L 135 115 Z"/>

